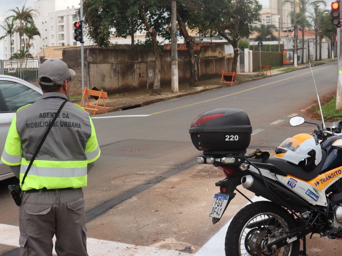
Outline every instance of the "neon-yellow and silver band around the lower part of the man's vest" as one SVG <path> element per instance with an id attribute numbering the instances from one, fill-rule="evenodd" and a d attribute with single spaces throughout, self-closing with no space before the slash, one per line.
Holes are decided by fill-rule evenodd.
<path id="1" fill-rule="evenodd" d="M 30 161 L 22 158 L 20 182 Z M 48 161 L 35 160 L 25 178 L 22 190 L 53 188 L 79 188 L 87 186 L 87 160 Z"/>

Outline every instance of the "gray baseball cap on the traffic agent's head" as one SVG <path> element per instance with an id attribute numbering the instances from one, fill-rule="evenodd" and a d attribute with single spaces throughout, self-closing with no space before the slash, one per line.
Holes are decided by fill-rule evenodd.
<path id="1" fill-rule="evenodd" d="M 60 59 L 47 59 L 38 69 L 39 82 L 43 85 L 62 85 L 70 75 L 75 75 L 75 71 L 68 68 Z M 41 82 L 40 79 L 45 76 L 52 80 L 52 83 Z"/>

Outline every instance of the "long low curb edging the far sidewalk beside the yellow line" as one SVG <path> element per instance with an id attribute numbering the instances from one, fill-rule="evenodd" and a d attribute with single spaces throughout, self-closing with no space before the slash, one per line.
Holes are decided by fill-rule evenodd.
<path id="1" fill-rule="evenodd" d="M 311 66 L 315 67 L 315 66 L 323 65 L 323 64 L 326 64 L 326 63 L 329 63 L 329 62 L 334 62 L 334 61 L 337 61 L 337 60 L 328 61 L 328 62 L 324 62 L 324 63 L 319 63 L 319 64 L 311 65 Z M 309 67 L 310 66 L 305 66 L 305 67 L 301 67 L 299 69 L 305 69 L 305 68 L 309 68 Z M 290 70 L 290 71 L 274 74 L 272 76 L 289 73 L 289 72 L 296 71 L 296 70 L 299 70 L 299 69 L 293 69 L 293 70 Z M 266 77 L 269 77 L 269 76 L 266 76 Z M 243 81 L 241 83 L 237 83 L 237 84 L 243 84 L 243 83 L 247 83 L 247 82 L 251 82 L 251 81 L 256 81 L 256 80 L 264 79 L 266 77 L 263 77 L 263 76 L 255 77 L 255 78 L 252 78 L 252 79 L 249 79 L 249 80 Z M 134 108 L 134 106 L 136 106 L 136 108 L 138 108 L 138 107 L 141 107 L 141 106 L 147 106 L 147 105 L 155 104 L 155 103 L 162 102 L 162 101 L 178 99 L 178 98 L 182 98 L 182 97 L 186 97 L 186 96 L 190 96 L 190 95 L 195 95 L 195 94 L 200 94 L 200 93 L 204 93 L 206 91 L 211 91 L 211 90 L 215 90 L 215 89 L 221 89 L 221 88 L 225 88 L 225 87 L 227 87 L 227 86 L 219 85 L 219 86 L 216 86 L 216 87 L 213 87 L 213 88 L 205 88 L 205 89 L 201 89 L 201 90 L 197 90 L 197 91 L 190 91 L 189 93 L 176 94 L 176 95 L 168 96 L 168 97 L 165 97 L 165 98 L 159 98 L 159 99 L 155 99 L 155 100 L 136 102 L 136 103 L 130 104 L 130 105 L 117 106 L 117 107 L 114 107 L 113 109 L 110 109 L 109 111 L 107 111 L 107 113 L 122 111 L 122 109 L 126 109 L 126 108 Z M 103 114 L 103 113 L 99 113 L 99 114 Z"/>

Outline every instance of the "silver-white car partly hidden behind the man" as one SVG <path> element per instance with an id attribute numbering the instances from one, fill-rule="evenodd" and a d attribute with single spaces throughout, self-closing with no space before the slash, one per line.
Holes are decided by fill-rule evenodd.
<path id="1" fill-rule="evenodd" d="M 14 76 L 0 75 L 0 154 L 17 109 L 36 102 L 42 94 L 38 86 Z M 0 181 L 13 176 L 11 169 L 0 161 Z"/>

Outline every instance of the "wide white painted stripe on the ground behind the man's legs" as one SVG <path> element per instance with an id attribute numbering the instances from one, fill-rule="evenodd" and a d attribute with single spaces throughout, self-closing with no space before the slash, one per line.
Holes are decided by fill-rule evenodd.
<path id="1" fill-rule="evenodd" d="M 19 227 L 6 224 L 0 224 L 0 244 L 19 247 Z M 56 237 L 53 238 L 55 243 Z M 87 238 L 87 251 L 89 256 L 139 256 L 139 255 L 165 255 L 165 256 L 188 256 L 175 250 L 160 249 L 152 246 L 139 246 L 133 244 L 125 244 L 95 238 Z M 53 249 L 53 255 L 57 255 Z"/>

